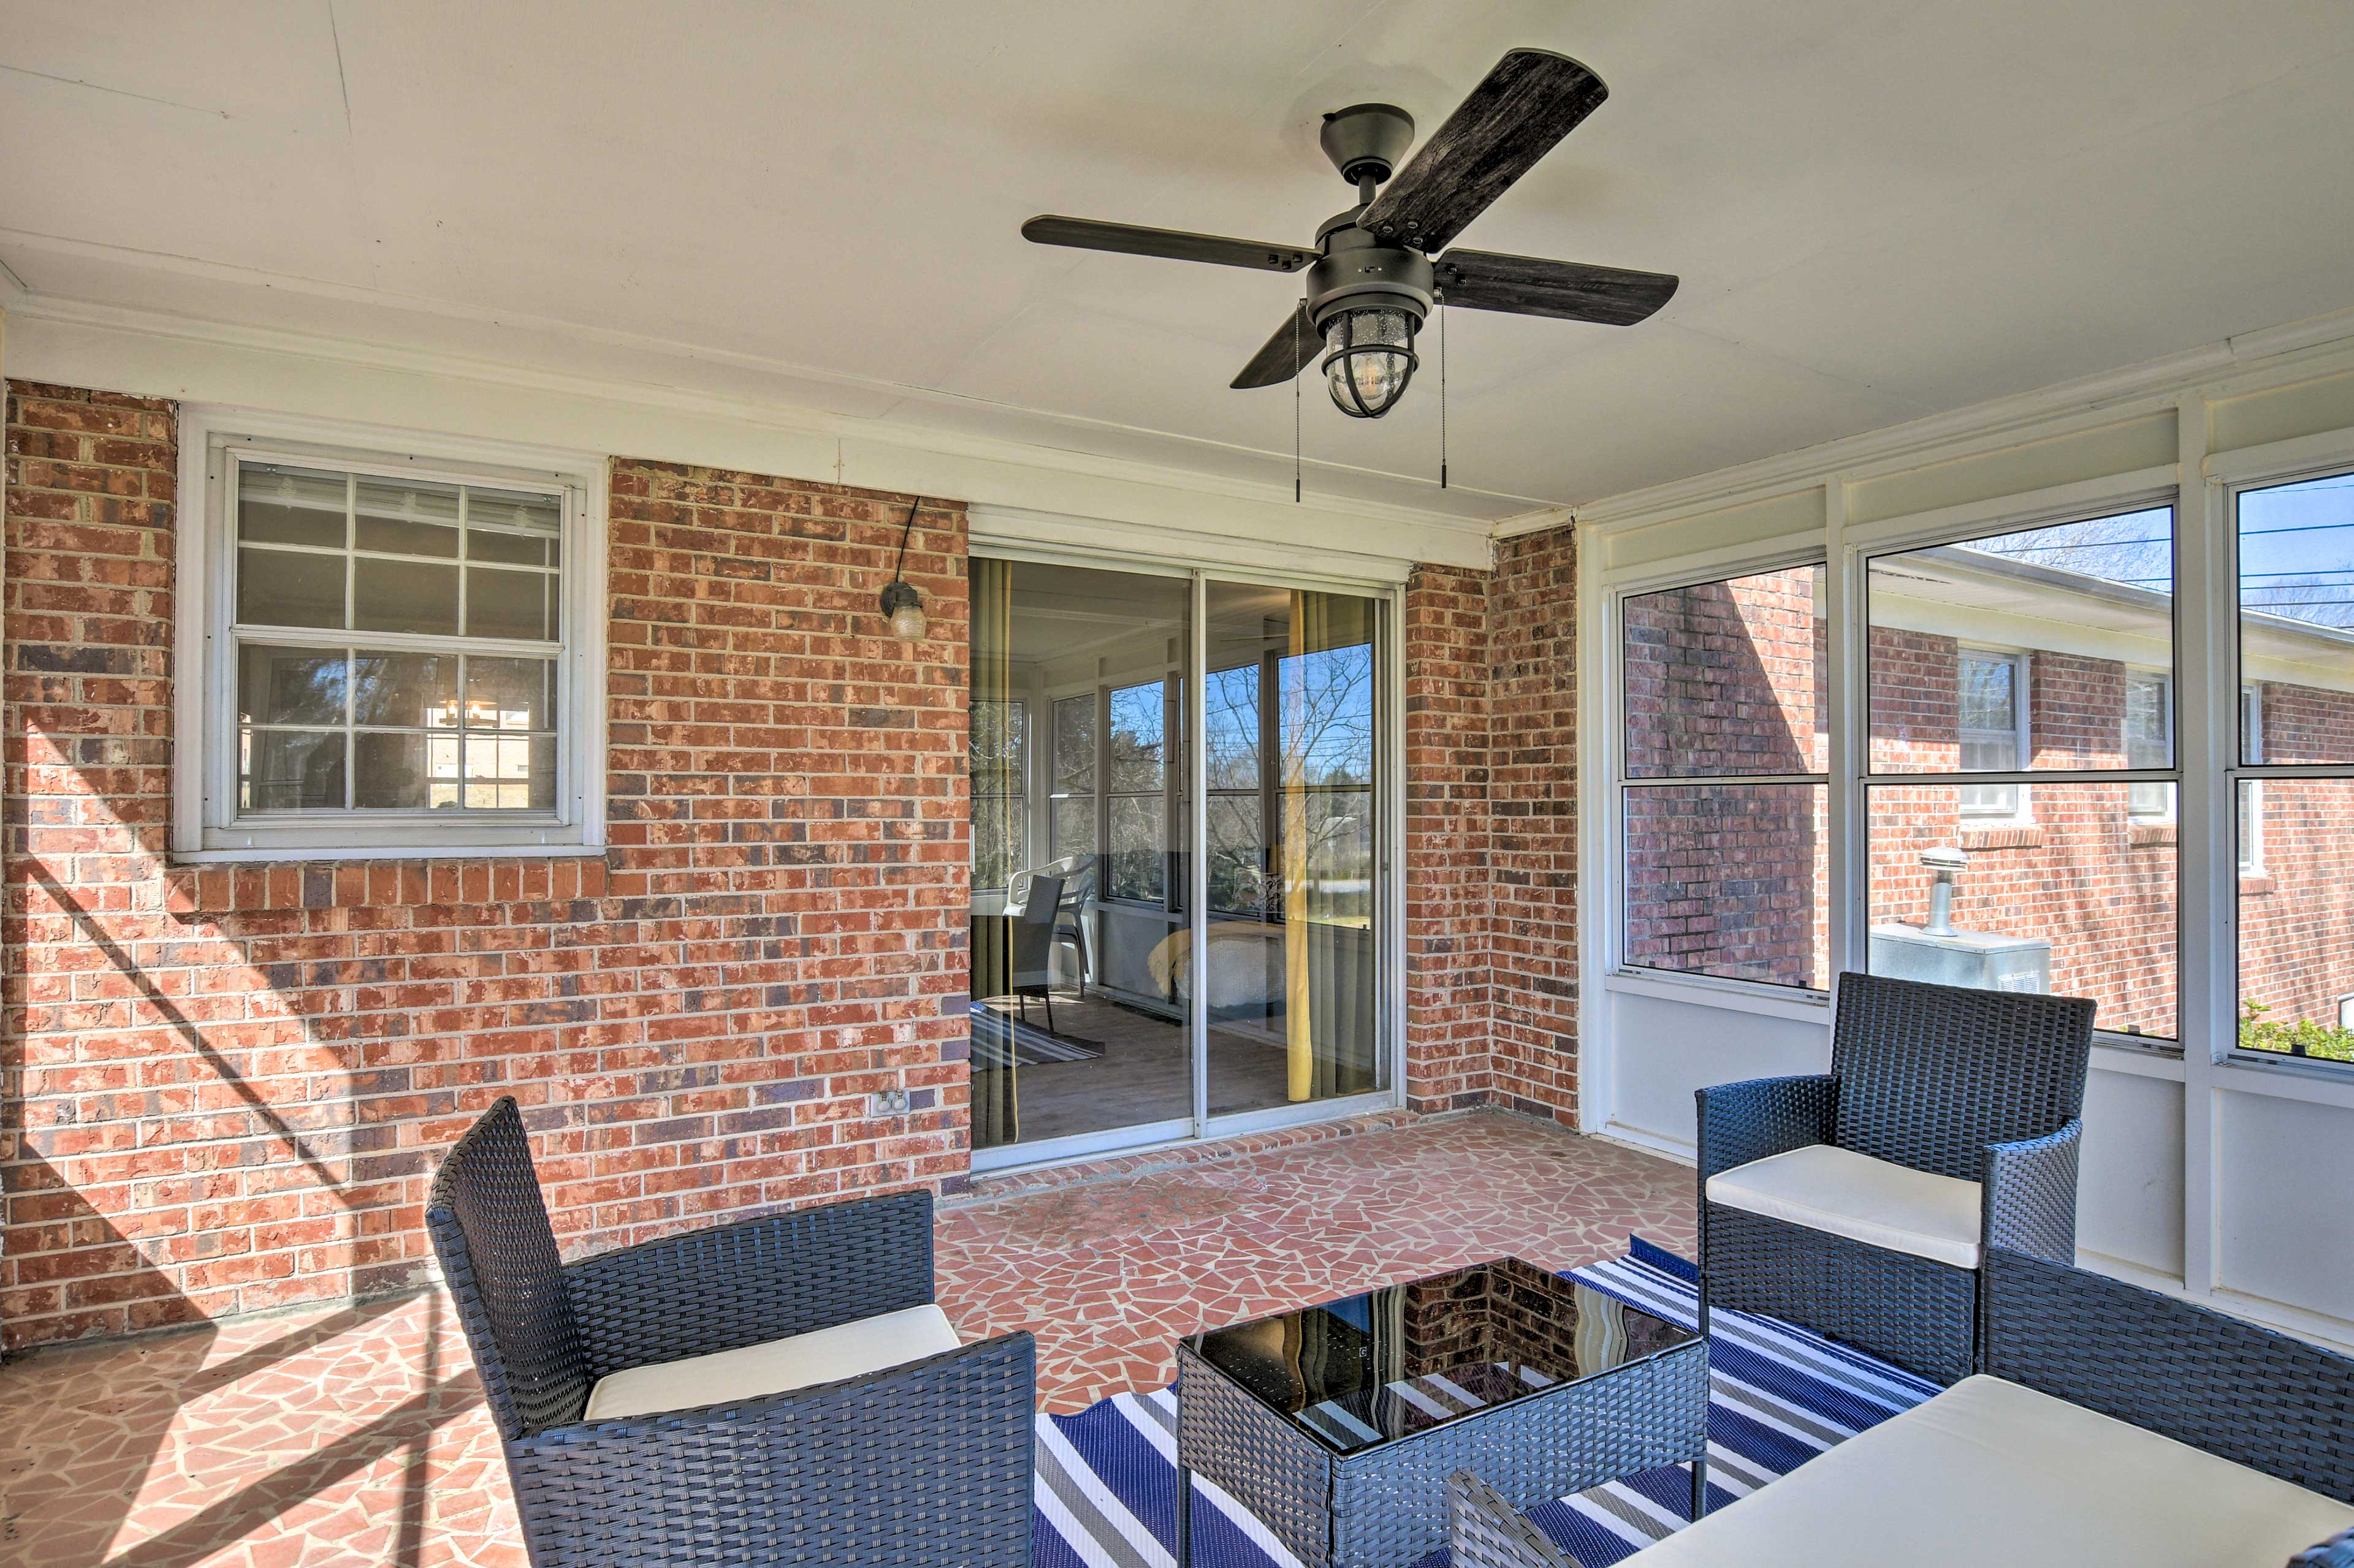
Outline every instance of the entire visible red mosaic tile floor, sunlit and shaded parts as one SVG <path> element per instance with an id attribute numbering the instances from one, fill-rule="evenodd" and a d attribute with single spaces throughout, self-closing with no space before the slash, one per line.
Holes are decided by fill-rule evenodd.
<path id="1" fill-rule="evenodd" d="M 1040 1403 L 1170 1377 L 1168 1342 L 1518 1253 L 1690 1253 L 1690 1172 L 1448 1116 L 1078 1182 L 939 1217 L 965 1335 L 1038 1335 Z M 0 1566 L 523 1568 L 497 1434 L 440 1295 L 42 1351 L 0 1368 Z"/>

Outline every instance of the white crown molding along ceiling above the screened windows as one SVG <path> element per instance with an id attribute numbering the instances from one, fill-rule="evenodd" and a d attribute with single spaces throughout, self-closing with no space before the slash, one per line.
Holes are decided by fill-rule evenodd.
<path id="1" fill-rule="evenodd" d="M 1822 485 L 1829 476 L 1857 471 L 1893 471 L 1923 461 L 1968 457 L 1975 447 L 2010 445 L 2020 438 L 2064 433 L 2062 424 L 2093 424 L 2135 412 L 2168 407 L 2201 391 L 2241 391 L 2239 379 L 2283 372 L 2328 372 L 2338 360 L 2354 365 L 2354 311 L 2333 311 L 2281 327 L 2241 332 L 2213 344 L 2185 348 L 2140 365 L 2104 370 L 2072 381 L 1975 403 L 1970 407 L 1928 414 L 1904 424 L 1843 436 L 1813 447 L 1761 457 L 1756 461 L 1695 473 L 1693 478 L 1598 497 L 1575 506 L 1504 518 L 1497 539 L 1530 534 L 1563 523 L 1584 523 L 1605 532 L 1643 527 L 1681 516 L 1742 506 L 1794 490 Z"/>

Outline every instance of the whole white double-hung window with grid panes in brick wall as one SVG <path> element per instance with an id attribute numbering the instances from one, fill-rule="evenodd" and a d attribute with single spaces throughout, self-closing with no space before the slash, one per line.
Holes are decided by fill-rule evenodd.
<path id="1" fill-rule="evenodd" d="M 200 624 L 181 647 L 195 631 L 200 673 L 174 850 L 596 843 L 591 483 L 193 433 L 207 469 L 181 565 Z"/>

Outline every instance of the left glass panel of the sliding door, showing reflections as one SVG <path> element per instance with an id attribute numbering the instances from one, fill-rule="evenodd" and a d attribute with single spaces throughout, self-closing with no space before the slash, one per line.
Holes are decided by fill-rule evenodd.
<path id="1" fill-rule="evenodd" d="M 972 1142 L 1196 1128 L 1193 582 L 972 560 Z"/>

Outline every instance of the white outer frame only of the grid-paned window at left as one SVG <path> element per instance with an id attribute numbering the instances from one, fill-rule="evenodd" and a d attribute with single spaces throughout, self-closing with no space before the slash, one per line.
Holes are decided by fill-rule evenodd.
<path id="1" fill-rule="evenodd" d="M 179 421 L 172 859 L 454 859 L 593 852 L 605 843 L 605 459 L 461 436 L 421 438 L 304 414 L 186 405 Z M 539 490 L 563 506 L 556 810 L 452 822 L 450 812 L 235 810 L 235 469 L 282 461 L 379 478 Z M 400 647 L 405 633 L 351 633 Z M 497 643 L 485 645 L 499 652 Z"/>

